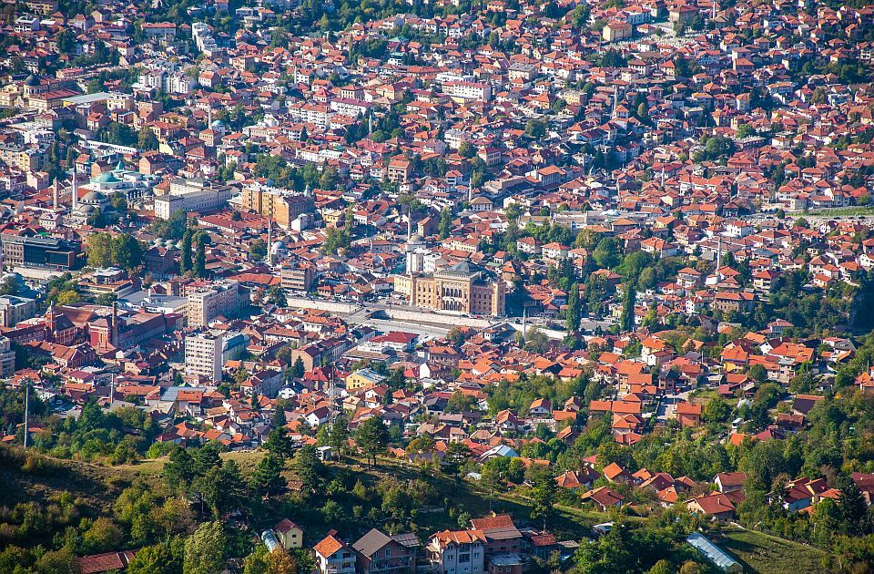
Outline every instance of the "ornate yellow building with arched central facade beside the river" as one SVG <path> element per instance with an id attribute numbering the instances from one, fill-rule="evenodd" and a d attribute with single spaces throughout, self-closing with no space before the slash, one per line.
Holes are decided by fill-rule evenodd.
<path id="1" fill-rule="evenodd" d="M 467 262 L 434 272 L 432 275 L 397 275 L 394 291 L 412 305 L 434 311 L 454 311 L 473 315 L 502 316 L 506 292 L 503 281 L 487 281 Z"/>

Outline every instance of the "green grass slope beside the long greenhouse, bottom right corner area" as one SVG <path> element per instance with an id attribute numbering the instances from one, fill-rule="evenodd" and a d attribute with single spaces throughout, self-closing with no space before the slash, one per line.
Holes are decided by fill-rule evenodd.
<path id="1" fill-rule="evenodd" d="M 711 538 L 744 567 L 744 572 L 822 574 L 823 550 L 753 530 L 733 530 Z"/>

